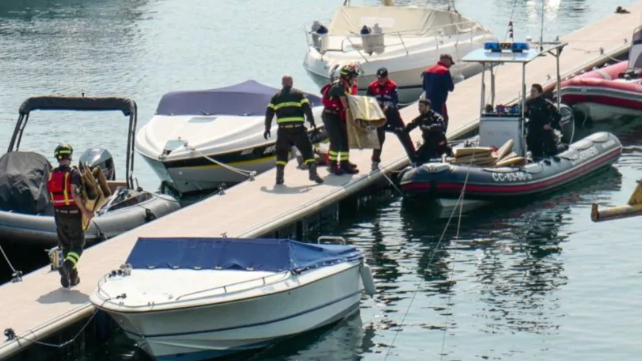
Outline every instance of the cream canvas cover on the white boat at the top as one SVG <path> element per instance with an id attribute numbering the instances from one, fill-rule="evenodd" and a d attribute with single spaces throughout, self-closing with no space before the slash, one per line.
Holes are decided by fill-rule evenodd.
<path id="1" fill-rule="evenodd" d="M 342 6 L 333 15 L 329 35 L 354 36 L 363 26 L 386 34 L 409 36 L 456 35 L 478 27 L 462 15 L 444 10 L 398 6 Z"/>

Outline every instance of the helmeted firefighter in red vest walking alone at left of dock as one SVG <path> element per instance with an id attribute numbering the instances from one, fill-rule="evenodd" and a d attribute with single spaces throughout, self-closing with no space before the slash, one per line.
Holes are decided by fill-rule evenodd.
<path id="1" fill-rule="evenodd" d="M 78 285 L 78 260 L 85 247 L 82 215 L 91 220 L 94 213 L 85 208 L 80 197 L 80 172 L 71 168 L 71 145 L 59 145 L 53 152 L 58 159 L 58 166 L 49 173 L 47 189 L 53 205 L 53 218 L 58 231 L 58 246 L 62 250 L 64 263 L 58 269 L 60 284 L 63 287 Z"/>

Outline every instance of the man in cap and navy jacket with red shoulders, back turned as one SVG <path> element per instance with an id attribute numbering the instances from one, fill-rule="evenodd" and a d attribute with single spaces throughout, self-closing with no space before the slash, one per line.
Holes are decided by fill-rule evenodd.
<path id="1" fill-rule="evenodd" d="M 453 57 L 450 54 L 442 54 L 437 64 L 428 67 L 422 73 L 423 88 L 426 98 L 430 100 L 430 109 L 438 112 L 444 118 L 444 132 L 448 130 L 448 109 L 446 108 L 448 92 L 455 90 L 453 76 L 450 73 L 450 67 L 453 65 L 455 65 Z"/>

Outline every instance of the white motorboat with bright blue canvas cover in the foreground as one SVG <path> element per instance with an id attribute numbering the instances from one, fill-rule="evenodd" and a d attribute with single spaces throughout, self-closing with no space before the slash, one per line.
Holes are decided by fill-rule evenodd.
<path id="1" fill-rule="evenodd" d="M 372 274 L 350 245 L 139 238 L 90 299 L 157 360 L 198 361 L 340 321 L 364 288 Z"/>

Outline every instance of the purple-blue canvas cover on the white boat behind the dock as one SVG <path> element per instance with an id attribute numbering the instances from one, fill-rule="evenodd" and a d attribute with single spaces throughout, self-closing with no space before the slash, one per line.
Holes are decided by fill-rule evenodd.
<path id="1" fill-rule="evenodd" d="M 178 115 L 262 116 L 272 96 L 279 91 L 254 80 L 218 89 L 174 91 L 160 98 L 156 113 Z M 310 106 L 321 104 L 321 98 L 306 93 Z"/>

